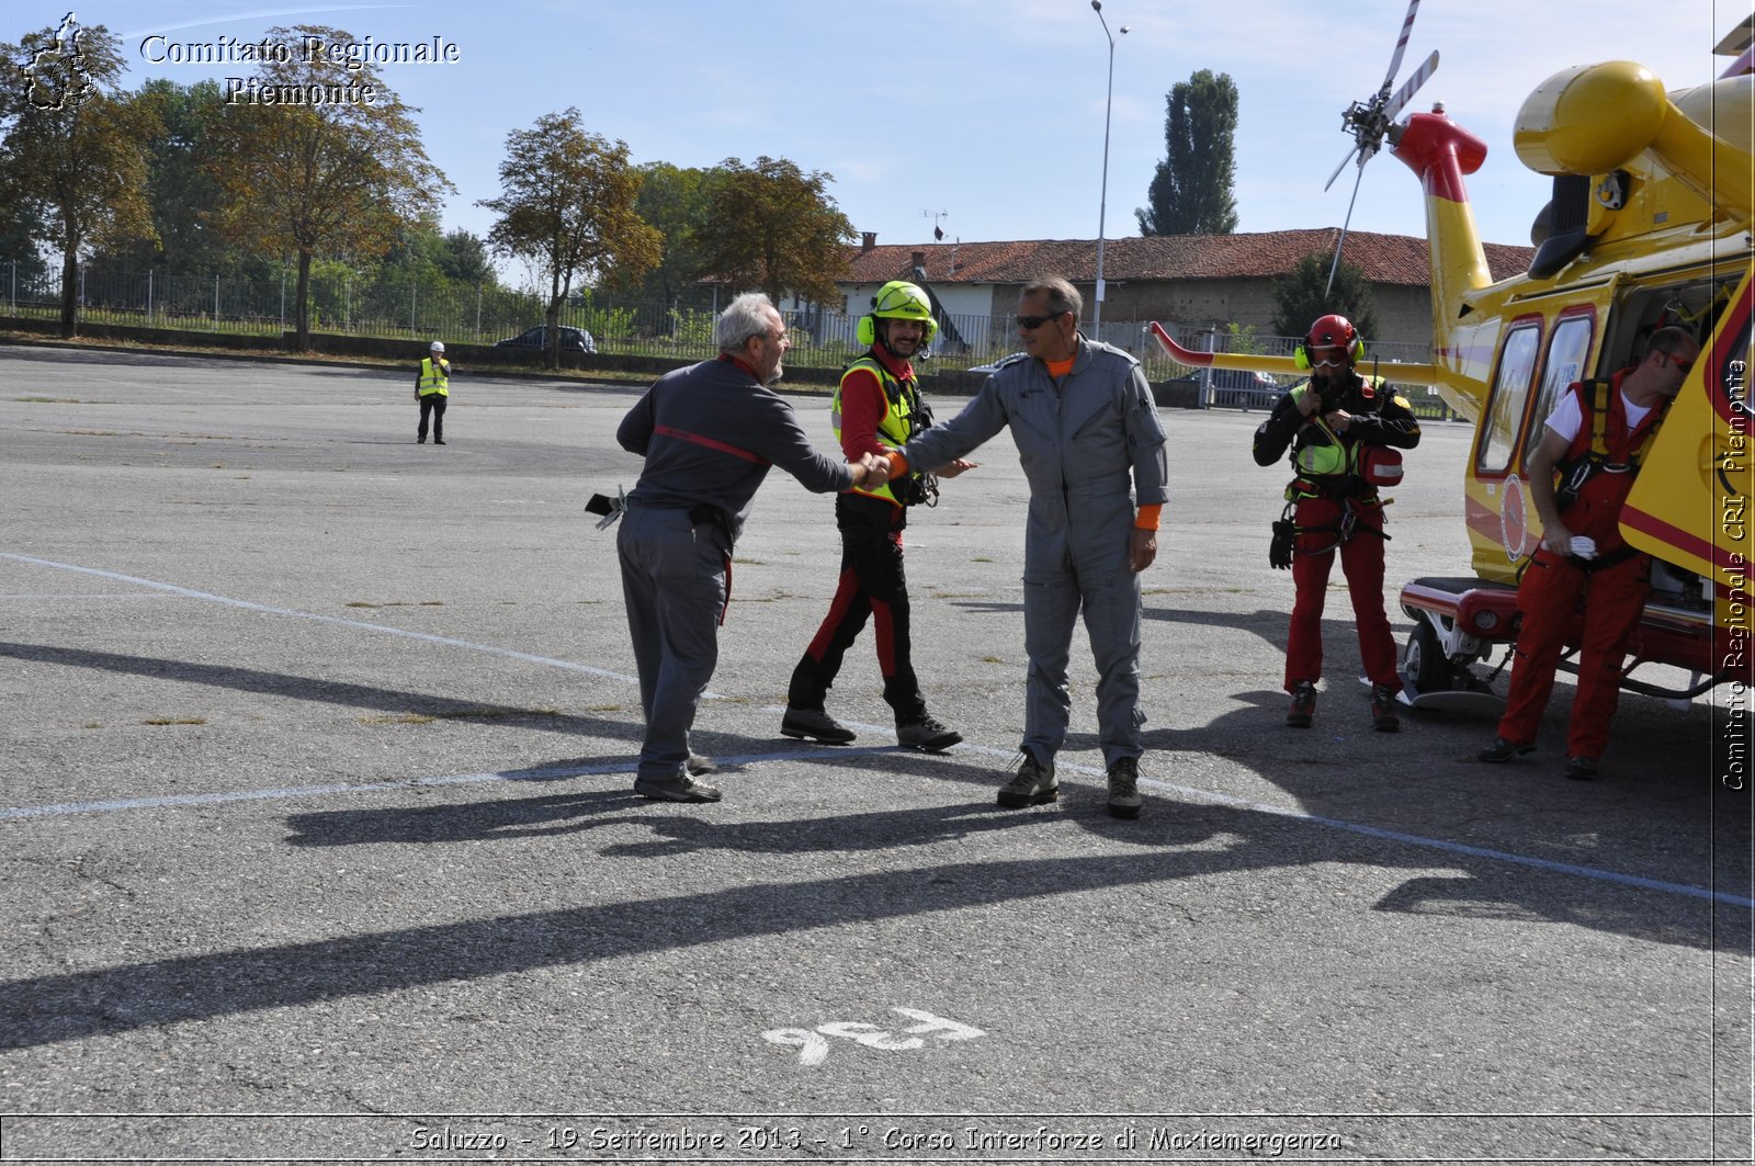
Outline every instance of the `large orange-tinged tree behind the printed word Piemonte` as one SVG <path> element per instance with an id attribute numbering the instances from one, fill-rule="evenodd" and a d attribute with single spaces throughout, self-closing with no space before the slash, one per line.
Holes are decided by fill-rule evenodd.
<path id="1" fill-rule="evenodd" d="M 441 193 L 455 188 L 421 148 L 412 119 L 419 111 L 404 105 L 369 63 L 305 51 L 311 40 L 353 44 L 351 33 L 298 25 L 270 28 L 267 39 L 286 46 L 286 60 L 270 53 L 244 93 L 323 93 L 325 100 L 225 105 L 211 130 L 209 172 L 219 183 L 214 221 L 258 255 L 295 256 L 295 328 L 305 349 L 311 260 L 372 260 L 398 234 L 435 223 Z"/>

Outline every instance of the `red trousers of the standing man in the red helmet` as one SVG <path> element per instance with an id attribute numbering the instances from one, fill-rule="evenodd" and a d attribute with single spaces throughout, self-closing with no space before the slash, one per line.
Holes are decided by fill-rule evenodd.
<path id="1" fill-rule="evenodd" d="M 1395 637 L 1390 636 L 1390 618 L 1383 613 L 1383 539 L 1372 530 L 1383 530 L 1383 506 L 1353 504 L 1353 537 L 1341 546 L 1336 529 L 1346 513 L 1339 499 L 1304 499 L 1297 504 L 1293 522 L 1299 539 L 1292 553 L 1292 627 L 1286 632 L 1286 692 L 1299 681 L 1322 680 L 1322 609 L 1329 594 L 1329 572 L 1336 555 L 1353 601 L 1353 620 L 1358 623 L 1358 655 L 1365 676 L 1374 685 L 1400 687 L 1395 676 Z"/>

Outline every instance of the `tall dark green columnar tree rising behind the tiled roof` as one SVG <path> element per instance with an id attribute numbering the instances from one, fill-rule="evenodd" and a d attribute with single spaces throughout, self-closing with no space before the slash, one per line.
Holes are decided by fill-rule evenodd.
<path id="1" fill-rule="evenodd" d="M 1202 68 L 1165 98 L 1165 156 L 1134 211 L 1144 235 L 1228 235 L 1237 230 L 1237 84 Z"/>

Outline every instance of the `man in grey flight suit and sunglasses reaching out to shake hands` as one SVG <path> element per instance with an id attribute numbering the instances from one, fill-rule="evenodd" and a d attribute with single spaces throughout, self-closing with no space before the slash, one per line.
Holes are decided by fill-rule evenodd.
<path id="1" fill-rule="evenodd" d="M 944 465 L 1011 428 L 1030 485 L 1023 534 L 1023 745 L 1000 806 L 1060 797 L 1055 753 L 1067 736 L 1072 625 L 1085 616 L 1097 662 L 1097 723 L 1109 778 L 1109 813 L 1137 818 L 1139 572 L 1158 553 L 1165 490 L 1164 425 L 1139 360 L 1079 332 L 1083 297 L 1060 277 L 1018 297 L 1018 339 L 1028 358 L 1004 362 L 969 406 L 892 457 Z M 1137 502 L 1137 509 L 1135 509 Z"/>

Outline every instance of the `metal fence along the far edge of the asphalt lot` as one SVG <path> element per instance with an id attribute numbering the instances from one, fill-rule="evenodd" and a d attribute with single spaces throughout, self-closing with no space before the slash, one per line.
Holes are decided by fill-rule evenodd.
<path id="1" fill-rule="evenodd" d="M 279 335 L 293 327 L 297 306 L 293 274 L 279 281 L 232 276 L 163 276 L 158 272 L 98 274 L 81 267 L 77 302 L 82 320 L 93 323 L 174 328 L 184 332 L 228 332 Z M 720 297 L 704 293 L 693 307 L 618 300 L 607 295 L 574 297 L 560 313 L 563 327 L 584 328 L 598 351 L 700 360 L 714 355 L 713 320 Z M 535 292 L 512 292 L 481 284 L 469 290 L 433 290 L 419 283 L 384 283 L 353 276 L 312 276 L 309 288 L 311 330 L 346 335 L 398 339 L 442 339 L 462 344 L 493 344 L 544 321 L 546 299 Z M 12 316 L 58 318 L 61 272 L 32 279 L 18 263 L 0 265 L 0 304 Z M 835 367 L 862 349 L 858 316 L 827 309 L 788 311 L 793 339 L 788 363 Z M 1164 321 L 1186 348 L 1288 356 L 1297 337 L 1244 335 L 1211 327 Z M 1150 334 L 1144 320 L 1106 320 L 1100 339 L 1123 348 L 1146 365 L 1151 381 L 1193 376 L 1176 363 Z M 981 316 L 949 313 L 934 341 L 934 365 L 969 369 L 1018 351 L 1011 314 Z M 1425 362 L 1418 344 L 1376 342 L 1372 356 L 1383 376 L 1399 360 Z M 1230 404 L 1213 393 L 1213 404 Z M 1436 399 L 1434 399 L 1436 400 Z"/>

